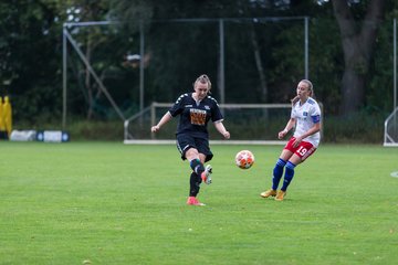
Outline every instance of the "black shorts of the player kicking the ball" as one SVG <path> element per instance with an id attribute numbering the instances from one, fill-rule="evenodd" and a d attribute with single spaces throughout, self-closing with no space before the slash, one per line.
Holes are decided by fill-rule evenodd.
<path id="1" fill-rule="evenodd" d="M 212 152 L 210 151 L 210 147 L 209 147 L 209 140 L 203 139 L 203 138 L 196 138 L 192 137 L 190 135 L 177 135 L 177 149 L 178 151 L 181 153 L 181 159 L 186 160 L 186 152 L 190 149 L 190 148 L 195 148 L 198 150 L 199 153 L 203 153 L 206 155 L 206 160 L 210 161 L 213 157 Z"/>

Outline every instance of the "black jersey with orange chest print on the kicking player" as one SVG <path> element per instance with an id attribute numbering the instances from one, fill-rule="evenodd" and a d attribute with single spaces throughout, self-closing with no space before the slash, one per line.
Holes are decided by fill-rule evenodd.
<path id="1" fill-rule="evenodd" d="M 207 124 L 222 121 L 223 117 L 214 98 L 206 96 L 196 102 L 192 93 L 182 94 L 169 109 L 172 117 L 180 115 L 177 127 L 178 134 L 189 134 L 193 137 L 209 139 Z"/>

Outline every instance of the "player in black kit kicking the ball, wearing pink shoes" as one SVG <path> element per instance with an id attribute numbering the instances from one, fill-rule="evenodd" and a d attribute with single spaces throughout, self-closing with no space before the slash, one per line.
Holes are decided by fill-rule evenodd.
<path id="1" fill-rule="evenodd" d="M 217 100 L 209 96 L 211 89 L 210 78 L 202 74 L 193 83 L 193 93 L 181 95 L 171 108 L 161 117 L 159 123 L 151 127 L 151 131 L 156 132 L 168 123 L 172 117 L 180 115 L 177 127 L 177 148 L 181 153 L 182 160 L 188 160 L 192 169 L 190 176 L 189 198 L 187 204 L 202 206 L 197 195 L 199 193 L 200 183 L 211 183 L 210 161 L 213 157 L 209 146 L 209 131 L 207 124 L 211 119 L 216 129 L 226 138 L 230 138 L 230 132 L 223 126 L 223 117 Z"/>

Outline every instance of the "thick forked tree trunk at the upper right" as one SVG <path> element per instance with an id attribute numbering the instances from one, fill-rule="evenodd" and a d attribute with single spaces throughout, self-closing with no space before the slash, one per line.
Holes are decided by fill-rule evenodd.
<path id="1" fill-rule="evenodd" d="M 347 0 L 333 0 L 334 13 L 342 34 L 345 63 L 342 80 L 341 113 L 343 114 L 358 110 L 365 102 L 366 78 L 384 7 L 385 0 L 371 0 L 365 12 L 364 22 L 360 23 L 354 17 L 354 10 Z"/>

